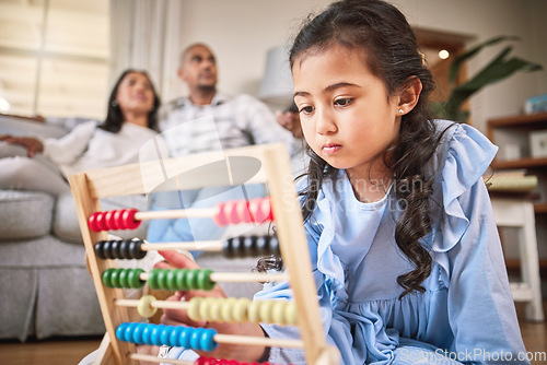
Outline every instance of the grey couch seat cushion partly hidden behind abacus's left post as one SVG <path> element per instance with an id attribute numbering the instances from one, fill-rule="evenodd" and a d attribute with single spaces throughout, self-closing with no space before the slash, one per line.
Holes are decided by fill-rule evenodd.
<path id="1" fill-rule="evenodd" d="M 135 208 L 139 211 L 147 211 L 148 200 L 144 196 L 104 198 L 101 200 L 101 208 L 103 211 L 128 208 Z M 124 239 L 130 239 L 135 237 L 146 238 L 147 228 L 148 221 L 143 221 L 137 229 L 112 231 L 110 233 Z M 74 244 L 83 243 L 80 224 L 78 222 L 78 215 L 75 212 L 74 199 L 72 198 L 72 195 L 70 192 L 61 195 L 59 199 L 57 199 L 53 232 L 58 238 L 62 240 Z"/>

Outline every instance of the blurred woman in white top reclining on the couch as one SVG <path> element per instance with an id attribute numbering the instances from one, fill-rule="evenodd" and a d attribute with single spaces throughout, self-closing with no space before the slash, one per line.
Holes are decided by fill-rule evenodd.
<path id="1" fill-rule="evenodd" d="M 71 174 L 138 162 L 140 148 L 158 133 L 160 103 L 147 72 L 126 70 L 102 123 L 81 123 L 61 139 L 0 134 L 0 188 L 60 195 Z"/>

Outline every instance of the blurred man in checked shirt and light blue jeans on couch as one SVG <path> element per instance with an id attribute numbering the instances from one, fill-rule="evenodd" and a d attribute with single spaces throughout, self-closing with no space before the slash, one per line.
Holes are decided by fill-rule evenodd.
<path id="1" fill-rule="evenodd" d="M 214 55 L 206 45 L 193 44 L 183 51 L 178 78 L 187 84 L 189 95 L 168 103 L 162 110 L 160 123 L 172 156 L 271 142 L 287 143 L 291 154 L 301 151 L 301 139 L 280 127 L 264 103 L 251 95 L 229 97 L 218 93 L 217 71 Z M 240 185 L 178 193 L 155 192 L 152 198 L 153 209 L 159 210 L 209 208 L 217 202 L 251 200 L 265 195 L 261 185 Z M 149 225 L 148 240 L 218 239 L 223 233 L 224 228 L 210 220 L 155 220 Z"/>

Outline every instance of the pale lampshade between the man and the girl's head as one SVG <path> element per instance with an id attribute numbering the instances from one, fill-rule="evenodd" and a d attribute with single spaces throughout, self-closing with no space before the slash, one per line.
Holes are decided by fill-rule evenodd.
<path id="1" fill-rule="evenodd" d="M 265 103 L 287 107 L 292 103 L 292 74 L 289 66 L 289 48 L 270 48 L 266 58 L 259 97 Z"/>

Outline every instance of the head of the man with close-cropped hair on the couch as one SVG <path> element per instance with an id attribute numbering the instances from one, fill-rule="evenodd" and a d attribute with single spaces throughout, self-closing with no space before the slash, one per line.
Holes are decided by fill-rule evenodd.
<path id="1" fill-rule="evenodd" d="M 206 46 L 197 45 L 186 51 L 178 69 L 178 76 L 194 89 L 214 89 L 217 85 L 217 60 Z"/>

